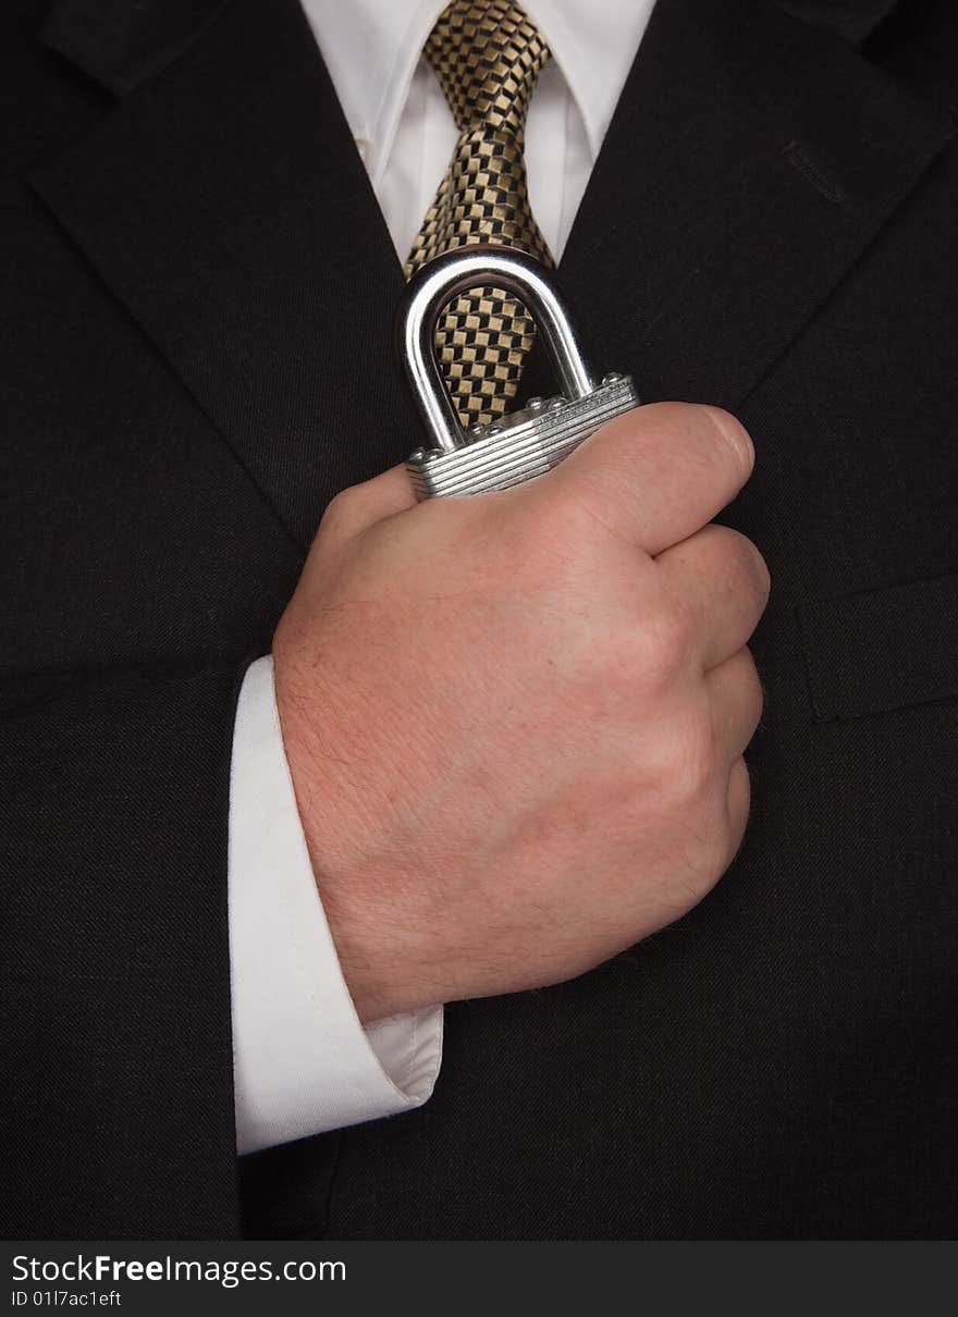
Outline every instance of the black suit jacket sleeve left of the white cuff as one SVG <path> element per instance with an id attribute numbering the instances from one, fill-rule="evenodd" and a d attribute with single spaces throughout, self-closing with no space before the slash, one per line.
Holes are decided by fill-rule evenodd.
<path id="1" fill-rule="evenodd" d="M 239 1233 L 227 830 L 246 665 L 0 685 L 8 1238 Z"/>

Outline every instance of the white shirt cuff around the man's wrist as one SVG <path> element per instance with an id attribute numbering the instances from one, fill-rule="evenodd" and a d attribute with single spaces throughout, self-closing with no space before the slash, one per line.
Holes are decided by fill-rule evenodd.
<path id="1" fill-rule="evenodd" d="M 364 1029 L 310 864 L 271 657 L 246 672 L 229 788 L 229 960 L 236 1143 L 256 1152 L 422 1106 L 443 1008 Z"/>

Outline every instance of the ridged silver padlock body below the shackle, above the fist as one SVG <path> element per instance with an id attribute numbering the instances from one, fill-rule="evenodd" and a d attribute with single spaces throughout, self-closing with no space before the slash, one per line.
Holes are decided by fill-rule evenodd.
<path id="1" fill-rule="evenodd" d="M 584 398 L 544 399 L 505 416 L 494 433 L 480 433 L 452 452 L 416 449 L 406 462 L 422 502 L 451 494 L 484 494 L 544 475 L 600 425 L 638 407 L 629 375 L 606 375 Z"/>

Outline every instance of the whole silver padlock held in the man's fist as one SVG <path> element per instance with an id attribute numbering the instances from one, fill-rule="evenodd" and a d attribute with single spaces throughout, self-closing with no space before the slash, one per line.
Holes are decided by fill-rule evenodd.
<path id="1" fill-rule="evenodd" d="M 492 425 L 464 431 L 436 360 L 440 312 L 466 288 L 505 288 L 535 320 L 560 387 Z M 397 317 L 397 349 L 430 443 L 406 470 L 418 499 L 481 494 L 543 475 L 598 427 L 639 403 L 629 375 L 596 383 L 555 279 L 514 248 L 476 244 L 430 261 L 410 279 Z"/>

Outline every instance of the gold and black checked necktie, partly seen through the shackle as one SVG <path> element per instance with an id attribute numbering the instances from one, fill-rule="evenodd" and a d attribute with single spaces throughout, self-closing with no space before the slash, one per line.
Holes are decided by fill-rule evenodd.
<path id="1" fill-rule="evenodd" d="M 423 55 L 449 101 L 459 141 L 406 262 L 406 278 L 432 257 L 470 242 L 552 257 L 528 205 L 522 150 L 526 113 L 549 49 L 510 0 L 453 0 Z M 436 349 L 464 425 L 507 410 L 535 325 L 501 288 L 470 288 L 443 312 Z"/>

